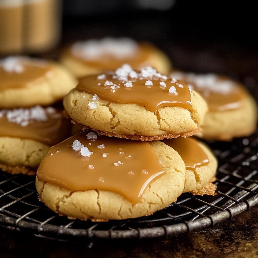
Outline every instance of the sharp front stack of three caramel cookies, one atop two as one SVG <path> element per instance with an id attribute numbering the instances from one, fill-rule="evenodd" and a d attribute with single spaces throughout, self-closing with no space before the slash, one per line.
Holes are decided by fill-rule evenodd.
<path id="1" fill-rule="evenodd" d="M 80 78 L 63 105 L 85 131 L 52 147 L 36 179 L 41 200 L 58 214 L 127 219 L 182 192 L 214 193 L 215 157 L 184 138 L 199 131 L 207 104 L 184 81 L 124 64 Z"/>

